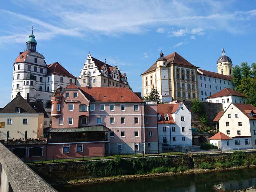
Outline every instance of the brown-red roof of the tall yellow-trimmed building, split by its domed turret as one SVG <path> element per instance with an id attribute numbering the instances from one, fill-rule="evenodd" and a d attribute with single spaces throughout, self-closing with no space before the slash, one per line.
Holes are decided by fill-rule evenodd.
<path id="1" fill-rule="evenodd" d="M 192 65 L 190 62 L 188 62 L 186 59 L 184 59 L 181 55 L 179 55 L 177 52 L 171 53 L 170 55 L 165 56 L 167 59 L 167 65 L 170 65 L 172 63 L 174 64 L 180 64 L 180 65 L 185 65 L 185 66 L 190 66 L 190 67 L 196 67 Z M 151 72 L 157 68 L 156 62 L 149 67 L 144 73 L 141 75 Z M 197 67 L 196 67 L 197 68 Z"/>

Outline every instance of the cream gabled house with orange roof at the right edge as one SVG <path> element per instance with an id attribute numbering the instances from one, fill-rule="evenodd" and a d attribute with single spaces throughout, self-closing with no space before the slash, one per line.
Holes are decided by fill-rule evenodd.
<path id="1" fill-rule="evenodd" d="M 256 146 L 256 108 L 253 105 L 231 103 L 213 121 L 218 123 L 220 132 L 232 138 L 235 148 Z"/>

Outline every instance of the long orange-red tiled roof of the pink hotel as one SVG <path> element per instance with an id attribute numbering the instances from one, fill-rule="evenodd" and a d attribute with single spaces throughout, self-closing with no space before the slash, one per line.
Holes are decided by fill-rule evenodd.
<path id="1" fill-rule="evenodd" d="M 74 85 L 70 85 L 74 87 Z M 78 87 L 91 102 L 144 103 L 127 87 Z M 65 88 L 66 89 L 66 88 Z M 69 86 L 67 87 L 69 89 Z M 72 88 L 73 89 L 73 88 Z"/>

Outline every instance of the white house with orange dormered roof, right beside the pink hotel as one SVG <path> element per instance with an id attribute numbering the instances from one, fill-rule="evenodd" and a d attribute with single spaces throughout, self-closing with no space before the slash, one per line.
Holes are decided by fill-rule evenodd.
<path id="1" fill-rule="evenodd" d="M 183 103 L 158 104 L 158 142 L 163 146 L 192 146 L 191 113 Z"/>

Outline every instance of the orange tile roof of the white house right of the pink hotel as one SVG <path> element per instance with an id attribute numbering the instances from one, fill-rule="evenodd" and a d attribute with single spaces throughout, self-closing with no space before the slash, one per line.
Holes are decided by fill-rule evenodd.
<path id="1" fill-rule="evenodd" d="M 157 114 L 160 114 L 162 116 L 162 120 L 158 121 L 158 124 L 175 124 L 175 121 L 173 120 L 172 113 L 175 113 L 182 102 L 176 103 L 176 104 L 158 104 L 157 105 Z M 168 114 L 169 120 L 165 121 L 164 116 Z"/>

